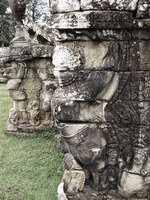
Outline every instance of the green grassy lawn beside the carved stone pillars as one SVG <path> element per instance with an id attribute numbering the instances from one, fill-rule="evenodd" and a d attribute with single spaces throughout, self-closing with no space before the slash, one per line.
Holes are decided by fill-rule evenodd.
<path id="1" fill-rule="evenodd" d="M 5 135 L 10 107 L 0 85 L 0 200 L 57 200 L 63 155 L 54 131 L 32 138 Z"/>

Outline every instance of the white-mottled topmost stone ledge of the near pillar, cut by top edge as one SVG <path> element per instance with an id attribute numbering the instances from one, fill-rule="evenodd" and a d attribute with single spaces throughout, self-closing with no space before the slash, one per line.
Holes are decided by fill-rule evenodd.
<path id="1" fill-rule="evenodd" d="M 103 10 L 130 11 L 136 18 L 150 17 L 149 0 L 51 0 L 52 13 L 67 13 L 74 11 Z"/>

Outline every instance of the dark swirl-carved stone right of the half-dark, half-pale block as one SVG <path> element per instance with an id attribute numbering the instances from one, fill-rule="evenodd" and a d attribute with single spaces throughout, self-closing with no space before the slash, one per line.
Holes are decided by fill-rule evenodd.
<path id="1" fill-rule="evenodd" d="M 105 107 L 105 120 L 117 127 L 149 126 L 150 102 L 116 100 Z"/>

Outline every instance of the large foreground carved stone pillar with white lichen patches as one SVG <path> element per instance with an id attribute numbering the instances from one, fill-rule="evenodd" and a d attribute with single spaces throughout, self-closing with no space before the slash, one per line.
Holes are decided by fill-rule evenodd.
<path id="1" fill-rule="evenodd" d="M 59 200 L 148 199 L 150 3 L 51 0 Z"/>

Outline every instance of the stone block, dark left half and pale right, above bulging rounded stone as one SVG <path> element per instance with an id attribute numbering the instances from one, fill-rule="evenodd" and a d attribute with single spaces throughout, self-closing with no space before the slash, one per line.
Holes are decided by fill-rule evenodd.
<path id="1" fill-rule="evenodd" d="M 60 111 L 56 114 L 56 119 L 63 122 L 89 122 L 89 123 L 104 123 L 105 122 L 105 107 L 107 102 L 99 103 L 72 101 L 72 105 L 58 104 Z"/>

